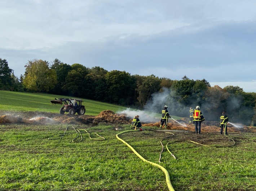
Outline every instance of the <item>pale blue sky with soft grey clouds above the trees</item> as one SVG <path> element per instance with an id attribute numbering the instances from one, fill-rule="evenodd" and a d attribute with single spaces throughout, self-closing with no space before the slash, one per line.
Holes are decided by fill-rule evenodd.
<path id="1" fill-rule="evenodd" d="M 0 58 L 14 75 L 59 59 L 256 92 L 255 0 L 0 0 Z"/>

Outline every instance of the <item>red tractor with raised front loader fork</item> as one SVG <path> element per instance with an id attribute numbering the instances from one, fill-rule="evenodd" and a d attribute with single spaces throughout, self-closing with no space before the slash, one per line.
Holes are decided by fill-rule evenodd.
<path id="1" fill-rule="evenodd" d="M 59 113 L 63 115 L 65 112 L 68 112 L 69 115 L 75 115 L 75 113 L 78 113 L 78 115 L 84 115 L 85 113 L 85 107 L 82 105 L 81 99 L 71 99 L 71 98 L 54 98 L 54 100 L 51 100 L 52 105 L 64 105 L 59 109 Z"/>

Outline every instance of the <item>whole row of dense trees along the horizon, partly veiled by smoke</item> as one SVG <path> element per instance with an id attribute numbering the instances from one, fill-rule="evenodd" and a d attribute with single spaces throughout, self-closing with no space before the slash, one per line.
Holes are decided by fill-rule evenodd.
<path id="1" fill-rule="evenodd" d="M 256 123 L 256 93 L 246 93 L 238 86 L 211 87 L 207 80 L 181 80 L 155 75 L 131 75 L 125 71 L 107 71 L 102 67 L 64 64 L 59 59 L 30 60 L 19 78 L 6 59 L 0 58 L 0 90 L 52 93 L 81 97 L 126 107 L 159 112 L 168 104 L 175 116 L 189 116 L 189 108 L 200 106 L 208 121 L 219 121 L 226 111 L 230 122 Z"/>

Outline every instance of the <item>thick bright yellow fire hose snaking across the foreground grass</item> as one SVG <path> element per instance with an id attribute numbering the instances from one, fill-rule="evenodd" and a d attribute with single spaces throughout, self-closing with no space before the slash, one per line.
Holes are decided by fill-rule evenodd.
<path id="1" fill-rule="evenodd" d="M 174 191 L 174 188 L 172 187 L 172 183 L 171 183 L 171 180 L 170 180 L 169 173 L 168 173 L 168 171 L 167 171 L 164 167 L 160 166 L 159 164 L 156 164 L 156 163 L 153 163 L 153 162 L 150 162 L 150 161 L 146 160 L 146 159 L 143 158 L 140 154 L 138 154 L 138 153 L 136 152 L 136 150 L 134 150 L 134 149 L 132 148 L 131 145 L 129 145 L 129 144 L 126 143 L 123 139 L 120 139 L 120 138 L 118 137 L 118 135 L 123 134 L 123 133 L 125 133 L 125 132 L 130 132 L 130 131 L 134 131 L 134 130 L 127 130 L 127 131 L 119 132 L 118 134 L 116 134 L 116 138 L 117 138 L 118 140 L 122 141 L 124 144 L 126 144 L 130 149 L 132 149 L 132 151 L 133 151 L 140 159 L 142 159 L 144 162 L 150 163 L 150 164 L 152 164 L 153 166 L 156 166 L 156 167 L 160 168 L 160 169 L 164 172 L 164 174 L 165 174 L 165 179 L 166 179 L 166 182 L 167 182 L 167 186 L 168 186 L 168 188 L 169 188 L 169 191 Z M 135 131 L 139 131 L 139 130 L 135 130 Z"/>

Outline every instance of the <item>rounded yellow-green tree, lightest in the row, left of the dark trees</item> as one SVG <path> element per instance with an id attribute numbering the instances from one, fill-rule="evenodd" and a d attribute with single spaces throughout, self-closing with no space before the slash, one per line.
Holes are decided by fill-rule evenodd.
<path id="1" fill-rule="evenodd" d="M 31 60 L 26 64 L 24 87 L 30 92 L 49 92 L 57 83 L 56 72 L 43 60 Z"/>

